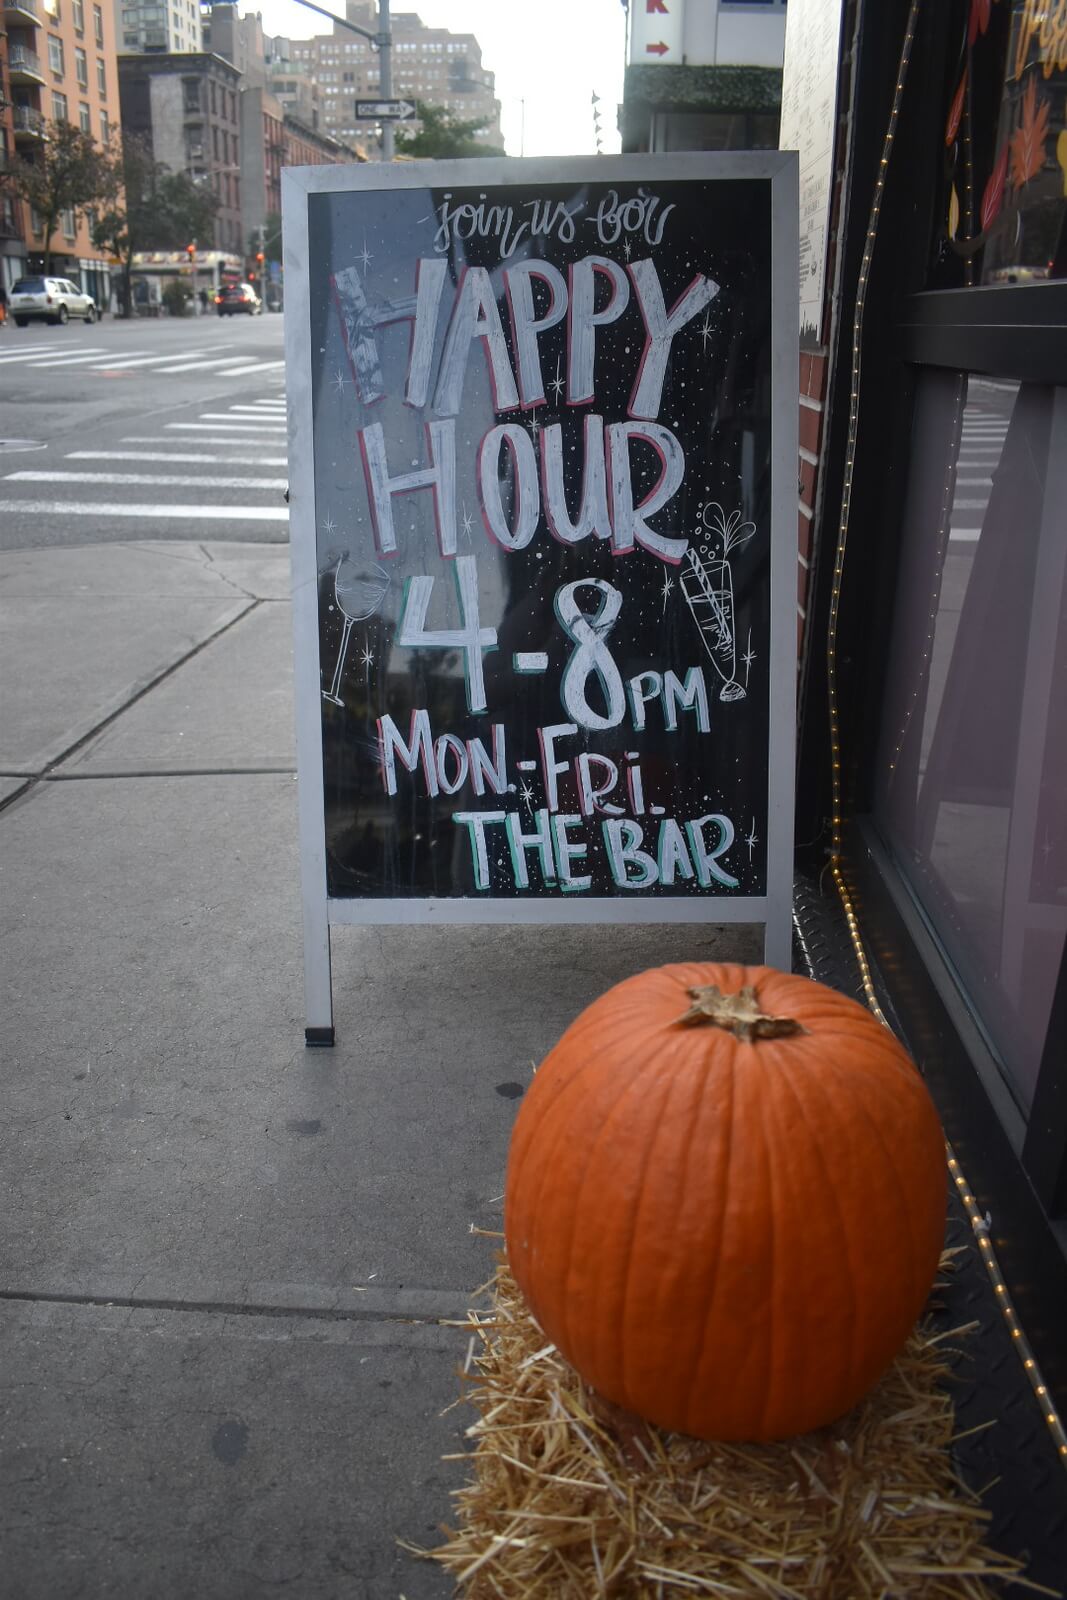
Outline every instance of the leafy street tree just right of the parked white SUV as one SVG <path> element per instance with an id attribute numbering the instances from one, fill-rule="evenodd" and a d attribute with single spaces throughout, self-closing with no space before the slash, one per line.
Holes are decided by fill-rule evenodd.
<path id="1" fill-rule="evenodd" d="M 107 152 L 107 202 L 93 243 L 122 262 L 122 306 L 131 312 L 133 258 L 144 250 L 184 250 L 214 237 L 219 202 L 210 189 L 155 160 L 150 139 L 122 134 Z"/>

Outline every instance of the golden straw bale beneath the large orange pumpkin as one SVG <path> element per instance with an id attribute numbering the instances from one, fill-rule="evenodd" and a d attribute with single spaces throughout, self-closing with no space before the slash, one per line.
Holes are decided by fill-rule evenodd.
<path id="1" fill-rule="evenodd" d="M 469 1461 L 472 1477 L 445 1544 L 406 1546 L 446 1568 L 462 1600 L 1051 1592 L 984 1546 L 989 1515 L 952 1467 L 945 1350 L 966 1330 L 917 1328 L 832 1427 L 715 1445 L 595 1395 L 545 1342 L 502 1256 L 486 1288 L 490 1310 L 462 1325 L 474 1448 L 446 1458 Z"/>

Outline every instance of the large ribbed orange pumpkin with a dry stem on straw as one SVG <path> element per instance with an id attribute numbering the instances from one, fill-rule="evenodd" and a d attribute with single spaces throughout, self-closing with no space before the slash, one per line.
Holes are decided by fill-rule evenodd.
<path id="1" fill-rule="evenodd" d="M 616 1405 L 702 1438 L 835 1421 L 923 1309 L 945 1222 L 937 1114 L 854 1000 L 768 966 L 609 989 L 520 1107 L 512 1272 Z"/>

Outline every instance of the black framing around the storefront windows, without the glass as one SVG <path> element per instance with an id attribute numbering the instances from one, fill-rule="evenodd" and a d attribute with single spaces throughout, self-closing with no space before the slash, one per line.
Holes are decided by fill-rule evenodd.
<path id="1" fill-rule="evenodd" d="M 837 707 L 841 730 L 843 872 L 883 1005 L 920 1059 L 947 1138 L 981 1211 L 997 1219 L 997 1251 L 1049 1392 L 1067 1405 L 1067 947 L 1029 1117 L 1016 1107 L 969 998 L 929 918 L 873 821 L 881 682 L 899 566 L 912 413 L 920 371 L 950 368 L 1022 384 L 1067 386 L 1067 280 L 926 290 L 936 237 L 942 85 L 952 75 L 957 6 L 920 10 L 862 322 L 857 426 L 849 418 L 853 312 L 867 250 L 883 139 L 909 0 L 865 6 L 857 32 L 849 171 L 841 198 L 841 314 L 827 334 L 832 374 L 819 474 L 821 544 L 813 552 L 808 645 L 801 667 L 797 837 L 824 866 L 830 798 L 824 640 L 837 608 Z M 851 454 L 843 576 L 835 574 L 837 518 Z"/>

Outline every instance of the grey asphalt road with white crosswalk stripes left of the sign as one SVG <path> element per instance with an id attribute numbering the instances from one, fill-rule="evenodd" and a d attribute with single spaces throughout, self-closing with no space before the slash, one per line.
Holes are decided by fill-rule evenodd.
<path id="1" fill-rule="evenodd" d="M 0 330 L 0 549 L 285 542 L 283 322 Z"/>

